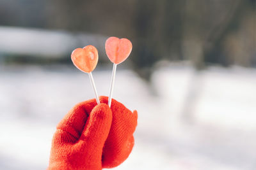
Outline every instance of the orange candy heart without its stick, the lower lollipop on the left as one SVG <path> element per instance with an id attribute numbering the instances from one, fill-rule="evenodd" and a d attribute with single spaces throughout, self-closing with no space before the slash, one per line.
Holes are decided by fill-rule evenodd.
<path id="1" fill-rule="evenodd" d="M 98 51 L 95 46 L 88 45 L 84 48 L 76 48 L 71 54 L 71 60 L 77 69 L 90 73 L 95 69 L 98 62 Z"/>

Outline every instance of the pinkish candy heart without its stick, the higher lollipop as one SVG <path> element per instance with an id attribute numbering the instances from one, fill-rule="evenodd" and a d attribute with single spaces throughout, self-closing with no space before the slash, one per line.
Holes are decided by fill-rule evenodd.
<path id="1" fill-rule="evenodd" d="M 109 60 L 115 64 L 120 64 L 129 57 L 132 43 L 126 38 L 109 37 L 105 43 L 105 49 Z"/>

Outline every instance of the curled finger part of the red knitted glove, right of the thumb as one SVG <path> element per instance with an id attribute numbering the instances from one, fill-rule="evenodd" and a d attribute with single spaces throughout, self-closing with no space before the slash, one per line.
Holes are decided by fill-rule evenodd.
<path id="1" fill-rule="evenodd" d="M 100 97 L 100 103 L 108 103 L 108 97 Z M 111 101 L 113 115 L 111 128 L 102 154 L 102 167 L 116 167 L 129 156 L 134 146 L 133 133 L 137 126 L 138 113 L 125 108 L 115 99 Z"/>

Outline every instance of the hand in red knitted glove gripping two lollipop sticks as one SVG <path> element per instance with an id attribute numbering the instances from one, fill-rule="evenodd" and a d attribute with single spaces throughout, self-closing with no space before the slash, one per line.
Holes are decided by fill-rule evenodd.
<path id="1" fill-rule="evenodd" d="M 52 139 L 48 169 L 102 169 L 124 162 L 134 145 L 137 112 L 108 97 L 79 103 L 61 120 Z"/>

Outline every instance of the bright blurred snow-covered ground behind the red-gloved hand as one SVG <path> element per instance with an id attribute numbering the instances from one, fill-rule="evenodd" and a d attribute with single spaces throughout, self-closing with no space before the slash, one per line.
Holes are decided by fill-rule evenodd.
<path id="1" fill-rule="evenodd" d="M 93 77 L 107 96 L 111 68 Z M 0 169 L 45 169 L 56 124 L 93 97 L 69 66 L 0 66 L 0 94 Z M 255 69 L 170 65 L 152 85 L 118 69 L 113 96 L 139 114 L 134 150 L 116 169 L 256 169 Z"/>

